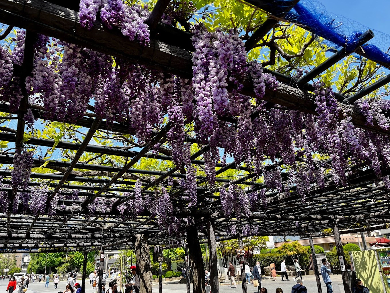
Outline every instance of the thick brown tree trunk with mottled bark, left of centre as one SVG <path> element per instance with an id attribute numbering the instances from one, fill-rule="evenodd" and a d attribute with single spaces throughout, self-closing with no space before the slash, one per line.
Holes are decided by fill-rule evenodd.
<path id="1" fill-rule="evenodd" d="M 137 235 L 135 240 L 136 273 L 139 278 L 139 293 L 152 293 L 152 264 L 147 239 L 147 235 L 141 234 Z M 136 286 L 138 285 L 137 283 Z"/>

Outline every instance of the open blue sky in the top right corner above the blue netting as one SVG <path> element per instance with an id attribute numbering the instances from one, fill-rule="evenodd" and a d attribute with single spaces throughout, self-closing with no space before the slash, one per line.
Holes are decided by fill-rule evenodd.
<path id="1" fill-rule="evenodd" d="M 328 12 L 358 21 L 370 29 L 390 35 L 389 0 L 320 0 Z M 390 44 L 389 44 L 390 45 Z"/>

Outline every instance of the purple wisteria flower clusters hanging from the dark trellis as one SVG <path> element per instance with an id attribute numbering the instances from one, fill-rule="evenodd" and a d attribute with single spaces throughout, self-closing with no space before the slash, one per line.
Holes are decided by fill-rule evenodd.
<path id="1" fill-rule="evenodd" d="M 107 29 L 119 29 L 129 40 L 144 45 L 150 41 L 145 24 L 147 7 L 128 6 L 122 1 L 82 0 L 82 25 L 91 28 L 98 11 Z M 169 18 L 168 11 L 164 17 L 168 22 L 175 18 Z M 172 161 L 186 171 L 185 180 L 179 182 L 185 204 L 179 207 L 172 203 L 167 184 L 160 184 L 154 193 L 143 193 L 141 181 L 137 180 L 134 198 L 133 193 L 124 194 L 131 199 L 115 207 L 122 218 L 128 214 L 151 214 L 156 216 L 158 227 L 172 236 L 177 236 L 180 225 L 192 221 L 174 216 L 180 211 L 196 210 L 199 203 L 198 169 L 191 163 L 187 136 L 199 145 L 209 146 L 203 155 L 207 188 L 218 188 L 215 192 L 218 191 L 221 211 L 227 218 L 240 220 L 263 211 L 266 193 L 271 191 L 288 193 L 296 189 L 304 203 L 312 188 L 325 187 L 325 179 L 331 178 L 336 186 L 347 186 L 348 175 L 358 168 L 372 169 L 378 182 L 388 182 L 387 177 L 382 177 L 390 163 L 388 137 L 356 128 L 347 115 L 340 119 L 331 88 L 314 84 L 317 115 L 269 105 L 262 98 L 266 90 L 277 90 L 276 79 L 263 73 L 261 64 L 247 62 L 245 46 L 236 32 L 209 32 L 200 25 L 191 29 L 195 48 L 192 79 L 130 64 L 43 35 L 38 35 L 35 43 L 34 68 L 26 79 L 26 91 L 31 105 L 46 110 L 46 119 L 77 123 L 89 104 L 97 118 L 106 120 L 108 125 L 126 123 L 140 143 L 150 141 L 154 130 L 163 127 L 165 118 L 170 123 L 167 139 Z M 25 32 L 18 31 L 12 51 L 1 48 L 0 52 L 4 68 L 0 72 L 1 100 L 9 102 L 11 111 L 18 109 L 23 98 L 20 80 L 12 73 L 15 66 L 22 64 L 24 38 Z M 255 98 L 241 93 L 244 80 L 252 80 Z M 366 117 L 367 125 L 378 123 L 381 129 L 388 130 L 389 105 L 387 100 L 360 100 L 355 108 Z M 32 112 L 28 111 L 24 118 L 31 130 Z M 153 146 L 154 151 L 158 152 L 159 147 Z M 60 203 L 62 198 L 53 199 L 51 208 L 42 205 L 48 198 L 47 186 L 32 188 L 30 193 L 21 191 L 28 187 L 31 158 L 32 152 L 27 148 L 16 149 L 11 182 L 16 194 L 14 212 L 20 202 L 27 213 L 29 210 L 32 214 L 53 215 L 55 200 Z M 226 165 L 229 158 L 236 164 L 244 162 L 254 173 L 252 181 L 257 185 L 243 190 L 236 184 L 216 182 L 216 164 L 221 161 Z M 3 207 L 10 205 L 5 191 L 0 199 Z M 89 215 L 95 215 L 97 210 L 110 213 L 113 206 L 112 199 L 96 199 L 88 207 Z M 258 228 L 245 225 L 242 232 L 257 233 Z"/>

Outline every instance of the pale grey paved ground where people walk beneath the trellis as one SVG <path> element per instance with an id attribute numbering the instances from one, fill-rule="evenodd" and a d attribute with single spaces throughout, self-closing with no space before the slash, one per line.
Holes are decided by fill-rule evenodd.
<path id="1" fill-rule="evenodd" d="M 341 275 L 331 275 L 330 276 L 333 282 L 333 292 L 334 293 L 344 293 L 344 288 L 341 281 Z M 320 276 L 321 278 L 321 276 Z M 303 285 L 306 286 L 308 293 L 317 293 L 317 284 L 316 284 L 316 278 L 314 275 L 311 276 L 303 276 L 303 279 L 305 282 L 303 282 Z M 81 280 L 78 280 L 81 284 Z M 290 293 L 291 287 L 295 284 L 295 282 L 292 279 L 289 279 L 289 281 L 283 281 L 280 279 L 280 277 L 277 278 L 276 281 L 274 281 L 272 278 L 263 278 L 262 280 L 262 287 L 265 287 L 268 289 L 269 293 L 274 293 L 275 289 L 277 287 L 280 287 L 283 289 L 284 293 Z M 8 281 L 2 280 L 0 281 L 0 292 L 5 292 L 5 289 L 7 288 Z M 64 291 L 66 285 L 66 281 L 60 282 L 58 284 L 58 288 L 54 289 L 53 282 L 50 282 L 49 288 L 45 288 L 44 282 L 35 282 L 30 283 L 28 285 L 28 290 L 26 293 L 57 293 L 60 291 Z M 229 288 L 229 283 L 222 283 L 220 285 L 220 293 L 240 293 L 242 292 L 241 284 L 238 285 L 238 288 Z M 323 293 L 326 293 L 326 286 L 324 282 L 321 279 L 321 285 L 322 285 L 322 291 Z M 247 285 L 248 286 L 248 293 L 257 292 L 257 289 L 253 287 L 253 285 Z M 92 288 L 92 286 L 89 286 L 89 280 L 87 282 L 87 288 L 85 290 L 86 293 L 96 293 L 95 289 Z M 192 292 L 192 284 L 191 284 L 191 292 Z M 153 283 L 153 293 L 158 293 L 158 283 Z M 172 282 L 165 282 L 163 283 L 163 293 L 186 293 L 186 284 L 185 283 L 177 283 L 175 281 Z"/>

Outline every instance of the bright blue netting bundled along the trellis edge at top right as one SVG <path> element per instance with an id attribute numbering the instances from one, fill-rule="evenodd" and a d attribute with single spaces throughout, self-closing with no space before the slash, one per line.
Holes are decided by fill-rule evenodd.
<path id="1" fill-rule="evenodd" d="M 273 14 L 280 14 L 291 0 L 275 0 Z M 301 0 L 289 11 L 285 19 L 296 23 L 317 36 L 324 38 L 326 45 L 333 49 L 345 47 L 347 52 L 356 49 L 360 35 L 369 28 L 361 23 L 343 16 L 326 12 L 325 7 L 317 1 Z M 372 30 L 372 29 L 371 29 Z M 390 55 L 387 54 L 390 46 L 390 36 L 377 30 L 372 30 L 375 37 L 362 46 L 366 57 L 372 61 L 390 66 Z"/>

